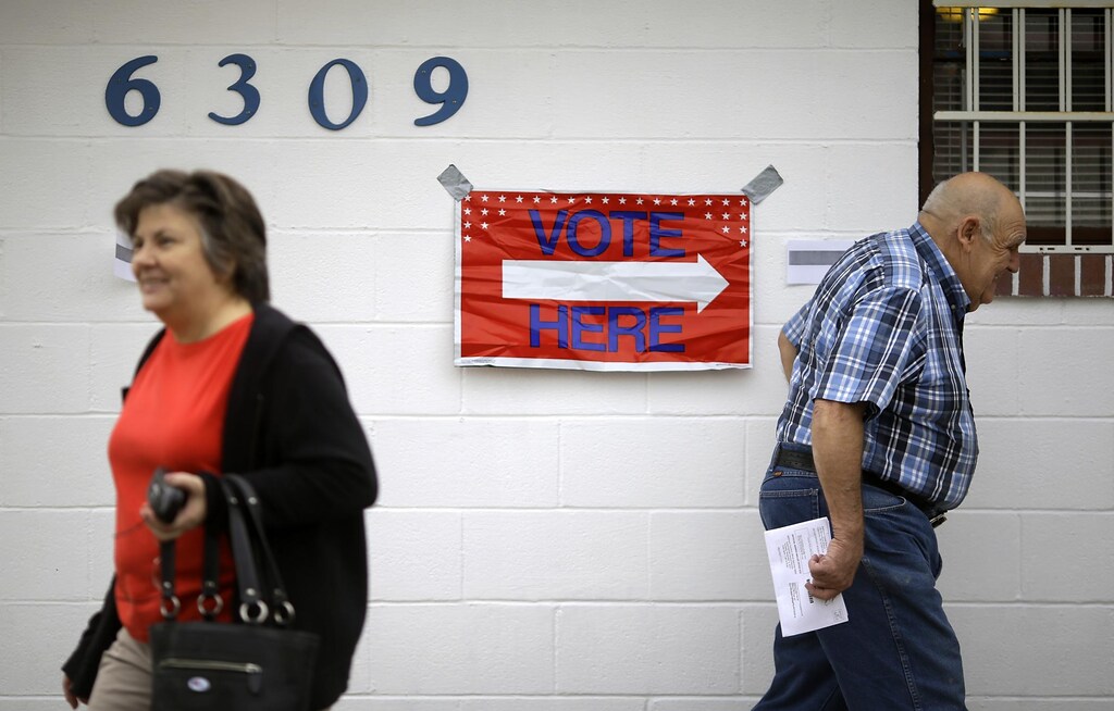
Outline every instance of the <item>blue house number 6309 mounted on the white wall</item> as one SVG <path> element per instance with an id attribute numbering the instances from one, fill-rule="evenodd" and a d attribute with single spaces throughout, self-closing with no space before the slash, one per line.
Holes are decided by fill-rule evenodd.
<path id="1" fill-rule="evenodd" d="M 148 65 L 154 65 L 157 61 L 158 57 L 154 55 L 137 57 L 131 61 L 125 62 L 108 80 L 108 86 L 105 87 L 105 106 L 108 108 L 108 113 L 117 124 L 133 127 L 143 126 L 158 113 L 158 107 L 163 100 L 158 92 L 158 87 L 149 79 L 133 77 L 137 70 Z M 219 116 L 211 111 L 208 117 L 217 124 L 238 126 L 248 121 L 260 110 L 260 90 L 251 83 L 252 77 L 255 76 L 255 60 L 247 55 L 228 55 L 217 66 L 224 67 L 226 65 L 235 65 L 240 68 L 240 79 L 228 87 L 228 91 L 235 91 L 240 95 L 244 101 L 244 108 L 236 116 Z M 325 113 L 324 101 L 325 75 L 329 73 L 330 69 L 338 66 L 343 67 L 348 71 L 349 80 L 352 85 L 352 110 L 349 112 L 348 118 L 339 124 L 333 122 Z M 432 82 L 433 70 L 438 68 L 443 68 L 449 72 L 449 83 L 442 91 L 434 89 Z M 143 107 L 135 115 L 128 113 L 124 106 L 125 98 L 130 91 L 138 91 L 143 98 Z M 459 111 L 460 107 L 463 106 L 465 99 L 468 97 L 468 75 L 465 73 L 465 68 L 460 66 L 460 62 L 449 57 L 427 59 L 418 67 L 418 71 L 414 72 L 414 93 L 427 103 L 441 105 L 438 110 L 429 116 L 414 119 L 414 125 L 432 126 L 433 124 L 440 124 Z M 333 131 L 341 130 L 354 121 L 360 116 L 360 112 L 363 111 L 364 105 L 368 103 L 368 80 L 363 76 L 363 70 L 360 69 L 359 65 L 349 59 L 334 59 L 322 67 L 313 77 L 313 81 L 310 82 L 307 101 L 310 113 L 313 116 L 314 121 L 323 128 Z"/>

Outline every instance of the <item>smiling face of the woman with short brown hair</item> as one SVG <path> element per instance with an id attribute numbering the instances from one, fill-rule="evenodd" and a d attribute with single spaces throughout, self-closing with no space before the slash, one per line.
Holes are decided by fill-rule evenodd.
<path id="1" fill-rule="evenodd" d="M 140 210 L 131 244 L 143 307 L 167 325 L 204 317 L 231 292 L 205 259 L 197 220 L 172 204 Z"/>

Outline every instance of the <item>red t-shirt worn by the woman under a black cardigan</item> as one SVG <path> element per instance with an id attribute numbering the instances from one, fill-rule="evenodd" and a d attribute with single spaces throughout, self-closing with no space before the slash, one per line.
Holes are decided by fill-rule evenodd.
<path id="1" fill-rule="evenodd" d="M 144 364 L 108 441 L 116 484 L 116 606 L 133 638 L 146 642 L 159 612 L 158 541 L 139 517 L 147 485 L 158 466 L 168 472 L 221 473 L 222 433 L 232 377 L 254 315 L 240 318 L 196 343 L 167 334 Z M 175 590 L 178 620 L 199 620 L 205 532 L 199 526 L 177 541 Z M 231 620 L 235 570 L 227 541 L 221 544 L 219 583 Z"/>

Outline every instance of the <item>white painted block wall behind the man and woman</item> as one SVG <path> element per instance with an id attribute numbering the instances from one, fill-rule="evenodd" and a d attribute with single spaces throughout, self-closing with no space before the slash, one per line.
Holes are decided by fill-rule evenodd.
<path id="1" fill-rule="evenodd" d="M 369 621 L 341 711 L 737 711 L 772 674 L 758 488 L 784 395 L 776 334 L 810 287 L 789 238 L 917 208 L 917 3 L 892 0 L 6 0 L 0 6 L 0 711 L 61 703 L 111 574 L 106 440 L 156 323 L 111 276 L 113 204 L 215 167 L 268 221 L 274 300 L 336 355 L 380 467 Z M 261 109 L 225 90 L 246 52 Z M 108 77 L 143 55 L 155 120 Z M 465 108 L 412 90 L 468 71 Z M 306 90 L 370 87 L 343 131 Z M 330 116 L 348 112 L 331 73 Z M 134 108 L 131 99 L 129 107 Z M 455 368 L 450 162 L 479 186 L 737 190 L 754 214 L 754 367 Z M 939 530 L 969 708 L 1114 704 L 1114 309 L 1001 300 L 966 343 L 983 456 Z"/>

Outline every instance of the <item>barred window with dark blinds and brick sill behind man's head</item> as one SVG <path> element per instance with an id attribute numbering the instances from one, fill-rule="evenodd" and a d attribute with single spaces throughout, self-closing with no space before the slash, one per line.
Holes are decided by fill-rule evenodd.
<path id="1" fill-rule="evenodd" d="M 1111 296 L 1114 6 L 921 0 L 921 117 L 922 199 L 981 170 L 1025 206 L 1003 293 Z"/>

